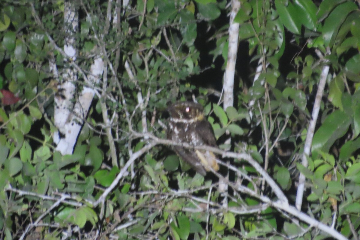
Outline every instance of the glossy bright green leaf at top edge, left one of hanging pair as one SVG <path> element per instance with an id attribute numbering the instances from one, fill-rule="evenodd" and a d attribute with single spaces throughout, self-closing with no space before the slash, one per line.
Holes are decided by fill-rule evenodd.
<path id="1" fill-rule="evenodd" d="M 299 13 L 290 1 L 287 1 L 287 3 L 288 5 L 285 6 L 285 1 L 275 0 L 276 11 L 279 14 L 281 22 L 289 31 L 300 34 L 301 20 Z"/>

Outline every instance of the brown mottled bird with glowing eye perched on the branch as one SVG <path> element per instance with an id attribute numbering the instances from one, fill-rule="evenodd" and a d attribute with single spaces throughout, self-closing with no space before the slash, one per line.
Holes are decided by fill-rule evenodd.
<path id="1" fill-rule="evenodd" d="M 211 124 L 204 117 L 202 105 L 190 101 L 177 102 L 168 107 L 167 111 L 170 114 L 167 139 L 194 146 L 217 146 Z M 201 175 L 205 176 L 210 168 L 219 170 L 217 158 L 211 151 L 173 147 L 177 155 Z"/>

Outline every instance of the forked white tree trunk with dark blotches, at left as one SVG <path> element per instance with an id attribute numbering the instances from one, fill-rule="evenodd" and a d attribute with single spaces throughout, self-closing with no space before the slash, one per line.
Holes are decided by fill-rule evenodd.
<path id="1" fill-rule="evenodd" d="M 67 29 L 64 45 L 65 61 L 75 61 L 77 51 L 74 46 L 74 33 L 77 32 L 78 14 L 73 3 L 69 1 L 64 3 L 64 24 Z M 103 60 L 97 57 L 94 60 L 94 64 L 91 65 L 91 74 L 85 77 L 85 86 L 78 99 L 74 97 L 77 71 L 70 67 L 64 69 L 63 83 L 59 84 L 58 87 L 58 95 L 60 96 L 55 97 L 54 111 L 55 126 L 59 130 L 59 132 L 54 134 L 54 142 L 57 144 L 56 150 L 60 151 L 63 155 L 72 154 L 73 152 L 77 136 L 84 122 L 83 119 L 86 118 L 95 95 L 93 86 L 99 82 L 98 76 L 102 74 L 103 66 Z M 73 102 L 74 99 L 75 104 Z"/>

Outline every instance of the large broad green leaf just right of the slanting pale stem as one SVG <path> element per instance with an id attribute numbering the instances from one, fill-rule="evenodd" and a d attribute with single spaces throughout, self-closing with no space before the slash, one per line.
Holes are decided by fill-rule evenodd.
<path id="1" fill-rule="evenodd" d="M 344 112 L 336 110 L 330 113 L 315 132 L 312 141 L 312 152 L 322 150 L 328 153 L 334 142 L 346 133 L 350 123 L 351 116 L 348 116 Z"/>

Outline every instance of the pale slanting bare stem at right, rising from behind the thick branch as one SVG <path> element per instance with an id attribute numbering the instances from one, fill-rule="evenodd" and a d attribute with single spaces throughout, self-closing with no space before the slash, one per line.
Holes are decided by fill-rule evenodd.
<path id="1" fill-rule="evenodd" d="M 309 123 L 309 128 L 307 130 L 305 146 L 304 146 L 304 153 L 302 155 L 302 162 L 301 162 L 304 167 L 307 167 L 307 164 L 308 164 L 307 157 L 310 156 L 312 138 L 314 137 L 315 125 L 316 125 L 316 121 L 318 120 L 321 98 L 323 97 L 324 87 L 325 87 L 326 78 L 328 76 L 328 73 L 329 73 L 329 65 L 325 65 L 323 67 L 323 71 L 321 71 L 318 92 L 316 92 L 314 108 L 312 109 L 311 120 Z M 301 209 L 304 188 L 305 188 L 305 175 L 300 173 L 299 185 L 297 187 L 296 202 L 295 202 L 295 206 L 298 210 Z"/>

